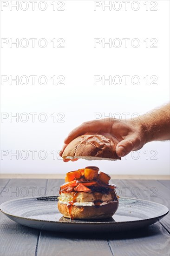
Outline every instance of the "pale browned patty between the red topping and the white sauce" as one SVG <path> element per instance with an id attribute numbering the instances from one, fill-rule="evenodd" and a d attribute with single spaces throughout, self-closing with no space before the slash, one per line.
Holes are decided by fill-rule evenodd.
<path id="1" fill-rule="evenodd" d="M 59 201 L 62 202 L 96 202 L 96 201 L 113 201 L 116 200 L 116 194 L 114 191 L 110 191 L 107 194 L 99 193 L 99 192 L 94 192 L 94 193 L 86 193 L 86 192 L 66 192 L 66 193 L 61 193 L 58 197 Z"/>

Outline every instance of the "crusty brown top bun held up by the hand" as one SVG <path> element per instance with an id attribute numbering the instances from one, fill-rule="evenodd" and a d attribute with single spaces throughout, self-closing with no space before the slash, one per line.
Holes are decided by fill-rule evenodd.
<path id="1" fill-rule="evenodd" d="M 121 160 L 116 154 L 116 145 L 103 135 L 81 135 L 65 148 L 63 159 Z"/>

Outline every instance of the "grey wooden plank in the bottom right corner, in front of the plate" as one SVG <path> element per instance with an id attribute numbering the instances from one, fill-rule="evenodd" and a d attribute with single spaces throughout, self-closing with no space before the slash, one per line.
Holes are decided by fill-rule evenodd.
<path id="1" fill-rule="evenodd" d="M 125 232 L 109 239 L 109 245 L 115 256 L 169 256 L 170 237 L 159 224 L 148 229 Z"/>

